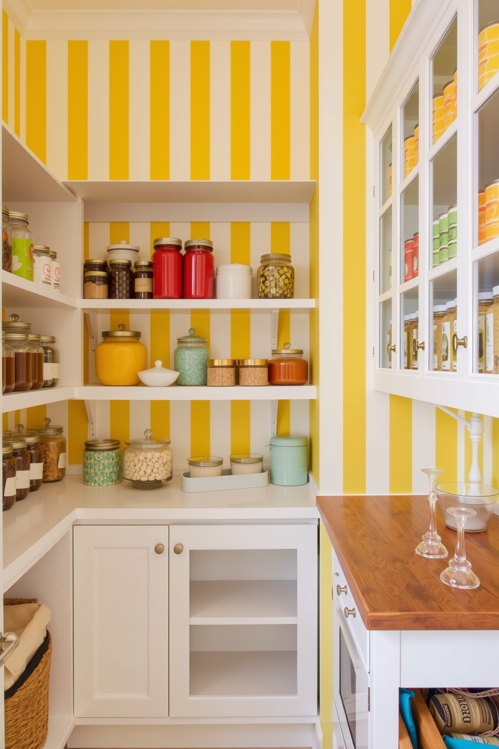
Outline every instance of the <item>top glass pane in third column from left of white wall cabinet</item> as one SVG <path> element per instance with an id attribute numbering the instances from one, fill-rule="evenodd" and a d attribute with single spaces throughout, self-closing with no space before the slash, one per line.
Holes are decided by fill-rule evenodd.
<path id="1" fill-rule="evenodd" d="M 432 57 L 432 144 L 457 116 L 457 19 Z"/>

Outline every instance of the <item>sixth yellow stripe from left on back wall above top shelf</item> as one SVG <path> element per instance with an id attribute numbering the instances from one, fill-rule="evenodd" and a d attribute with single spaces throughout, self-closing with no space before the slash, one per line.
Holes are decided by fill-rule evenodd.
<path id="1" fill-rule="evenodd" d="M 230 42 L 230 179 L 250 178 L 249 42 Z"/>

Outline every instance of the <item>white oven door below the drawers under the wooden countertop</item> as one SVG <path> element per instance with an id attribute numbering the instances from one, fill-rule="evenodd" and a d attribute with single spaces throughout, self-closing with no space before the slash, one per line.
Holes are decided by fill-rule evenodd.
<path id="1" fill-rule="evenodd" d="M 368 749 L 369 674 L 337 606 L 333 610 L 333 698 L 346 749 Z"/>

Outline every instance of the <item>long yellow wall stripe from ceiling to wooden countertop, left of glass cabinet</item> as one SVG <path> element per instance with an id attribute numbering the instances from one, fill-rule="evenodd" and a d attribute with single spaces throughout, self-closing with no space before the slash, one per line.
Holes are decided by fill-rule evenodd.
<path id="1" fill-rule="evenodd" d="M 343 4 L 343 491 L 366 491 L 365 2 Z M 352 301 L 355 300 L 355 304 Z M 353 333 L 355 331 L 355 333 Z"/>

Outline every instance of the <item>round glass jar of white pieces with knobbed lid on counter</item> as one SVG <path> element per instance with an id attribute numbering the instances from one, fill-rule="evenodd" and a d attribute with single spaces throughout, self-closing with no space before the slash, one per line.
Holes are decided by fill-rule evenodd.
<path id="1" fill-rule="evenodd" d="M 153 431 L 146 429 L 144 437 L 125 442 L 123 481 L 135 489 L 156 489 L 170 481 L 174 473 L 171 440 L 153 440 Z"/>

